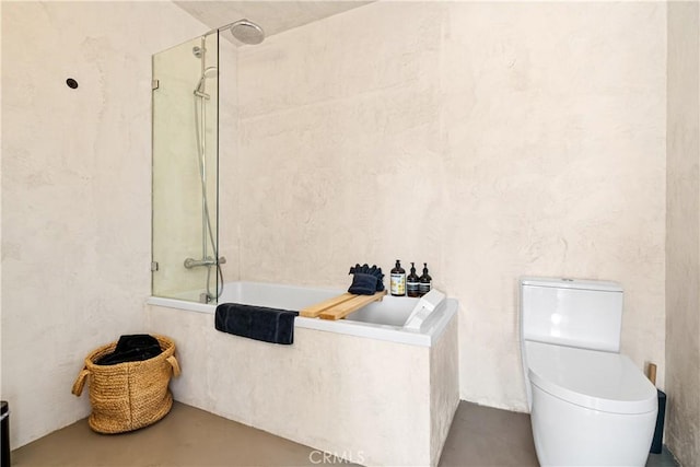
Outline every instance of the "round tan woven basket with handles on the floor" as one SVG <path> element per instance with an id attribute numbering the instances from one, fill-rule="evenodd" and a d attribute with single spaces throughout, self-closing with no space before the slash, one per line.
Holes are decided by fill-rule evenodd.
<path id="1" fill-rule="evenodd" d="M 93 362 L 114 352 L 117 342 L 100 347 L 85 358 L 85 366 L 73 384 L 72 393 L 80 396 L 90 377 L 92 413 L 90 428 L 98 433 L 124 433 L 148 427 L 170 412 L 173 396 L 167 388 L 171 375 L 178 376 L 175 342 L 164 336 L 158 339 L 163 352 L 149 360 L 116 365 Z"/>

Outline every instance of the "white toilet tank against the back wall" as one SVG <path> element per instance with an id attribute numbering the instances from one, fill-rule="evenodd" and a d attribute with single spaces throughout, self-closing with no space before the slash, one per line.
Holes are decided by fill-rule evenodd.
<path id="1" fill-rule="evenodd" d="M 616 282 L 521 279 L 521 337 L 582 349 L 620 351 L 622 288 Z"/>

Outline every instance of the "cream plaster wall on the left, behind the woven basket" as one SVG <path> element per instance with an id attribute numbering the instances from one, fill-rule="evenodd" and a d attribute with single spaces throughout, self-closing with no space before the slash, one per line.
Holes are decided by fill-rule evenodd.
<path id="1" fill-rule="evenodd" d="M 207 27 L 168 2 L 2 3 L 1 390 L 14 448 L 85 417 L 86 395 L 70 394 L 83 358 L 143 328 L 151 54 Z"/>

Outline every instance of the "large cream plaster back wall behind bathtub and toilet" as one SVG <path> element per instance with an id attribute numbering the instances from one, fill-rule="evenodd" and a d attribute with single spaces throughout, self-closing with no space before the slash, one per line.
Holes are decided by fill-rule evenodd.
<path id="1" fill-rule="evenodd" d="M 376 2 L 240 49 L 241 278 L 427 261 L 460 397 L 516 410 L 518 276 L 617 280 L 663 387 L 665 54 L 638 2 Z"/>

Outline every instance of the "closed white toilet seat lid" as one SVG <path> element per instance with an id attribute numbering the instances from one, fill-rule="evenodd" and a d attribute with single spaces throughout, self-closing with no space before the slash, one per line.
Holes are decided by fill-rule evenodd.
<path id="1" fill-rule="evenodd" d="M 656 388 L 626 355 L 535 341 L 525 351 L 532 384 L 557 398 L 610 413 L 656 410 Z"/>

